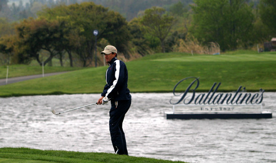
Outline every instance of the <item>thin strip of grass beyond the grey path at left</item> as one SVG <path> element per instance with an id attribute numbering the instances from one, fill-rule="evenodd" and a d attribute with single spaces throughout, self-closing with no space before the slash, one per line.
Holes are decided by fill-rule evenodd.
<path id="1" fill-rule="evenodd" d="M 61 66 L 45 66 L 44 73 L 62 72 L 62 71 L 74 71 L 80 70 L 80 67 L 61 67 Z M 10 65 L 9 66 L 9 78 L 37 75 L 42 74 L 41 66 L 29 66 L 29 65 Z M 7 66 L 0 66 L 0 79 L 4 79 L 7 76 Z"/>

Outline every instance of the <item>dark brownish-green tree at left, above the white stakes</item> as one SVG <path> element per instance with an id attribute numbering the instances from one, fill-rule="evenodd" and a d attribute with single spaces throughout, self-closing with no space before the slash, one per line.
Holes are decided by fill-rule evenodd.
<path id="1" fill-rule="evenodd" d="M 60 47 L 60 41 L 62 41 L 64 36 L 62 27 L 62 23 L 58 21 L 49 22 L 45 19 L 24 20 L 16 26 L 20 52 L 36 58 L 38 63 L 42 65 L 39 57 L 40 51 L 46 50 L 50 54 L 44 61 L 44 65 L 46 65 L 62 51 Z"/>

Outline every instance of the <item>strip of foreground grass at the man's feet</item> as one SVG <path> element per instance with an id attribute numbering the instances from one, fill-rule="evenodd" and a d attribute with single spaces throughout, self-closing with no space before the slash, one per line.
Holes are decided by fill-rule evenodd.
<path id="1" fill-rule="evenodd" d="M 0 162 L 175 162 L 98 152 L 0 148 Z M 181 162 L 181 161 L 178 161 Z"/>

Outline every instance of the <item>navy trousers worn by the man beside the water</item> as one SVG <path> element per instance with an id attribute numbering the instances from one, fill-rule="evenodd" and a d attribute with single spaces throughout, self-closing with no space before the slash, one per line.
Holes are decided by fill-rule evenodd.
<path id="1" fill-rule="evenodd" d="M 131 100 L 120 100 L 117 102 L 111 100 L 111 109 L 109 111 L 109 131 L 116 154 L 128 155 L 122 122 L 130 104 Z"/>

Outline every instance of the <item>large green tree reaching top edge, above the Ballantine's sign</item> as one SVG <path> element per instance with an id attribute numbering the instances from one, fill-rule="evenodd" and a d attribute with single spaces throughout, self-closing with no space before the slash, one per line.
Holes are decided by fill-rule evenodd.
<path id="1" fill-rule="evenodd" d="M 246 0 L 195 0 L 191 32 L 201 42 L 217 42 L 222 51 L 246 45 L 254 15 Z"/>

